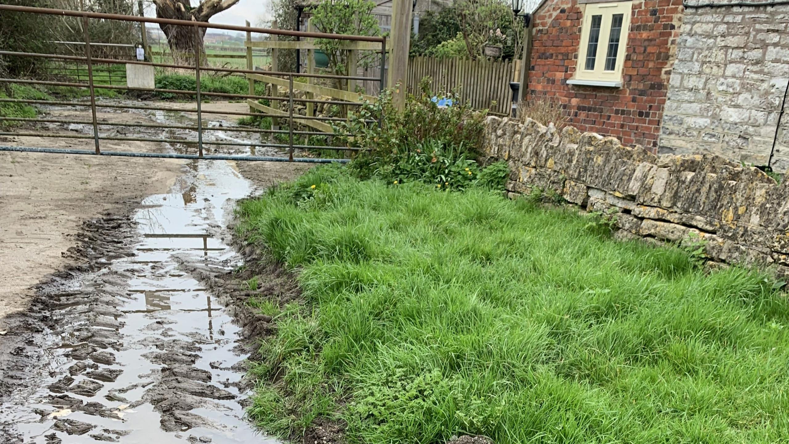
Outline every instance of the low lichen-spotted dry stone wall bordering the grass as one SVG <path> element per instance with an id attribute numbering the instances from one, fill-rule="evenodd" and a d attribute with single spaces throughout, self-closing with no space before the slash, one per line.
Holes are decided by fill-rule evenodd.
<path id="1" fill-rule="evenodd" d="M 512 195 L 554 190 L 583 209 L 615 212 L 620 239 L 701 239 L 713 262 L 770 265 L 789 277 L 789 181 L 722 156 L 657 156 L 531 119 L 488 117 L 483 146 L 488 161 L 509 162 Z"/>

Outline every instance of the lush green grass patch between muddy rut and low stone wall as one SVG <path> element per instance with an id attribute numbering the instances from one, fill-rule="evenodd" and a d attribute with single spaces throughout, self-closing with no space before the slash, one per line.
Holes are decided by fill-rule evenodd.
<path id="1" fill-rule="evenodd" d="M 238 209 L 239 235 L 303 288 L 253 301 L 278 325 L 249 410 L 268 431 L 329 418 L 347 442 L 789 442 L 789 303 L 772 279 L 705 273 L 526 198 L 339 171 Z"/>

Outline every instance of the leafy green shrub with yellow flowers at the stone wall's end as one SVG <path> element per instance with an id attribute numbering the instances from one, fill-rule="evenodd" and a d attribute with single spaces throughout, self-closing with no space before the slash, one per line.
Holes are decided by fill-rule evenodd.
<path id="1" fill-rule="evenodd" d="M 420 93 L 409 94 L 402 111 L 392 105 L 391 91 L 384 91 L 376 103 L 365 102 L 349 121 L 335 126 L 338 134 L 349 134 L 340 136 L 349 145 L 364 149 L 350 170 L 360 179 L 379 178 L 391 185 L 423 182 L 438 190 L 503 190 L 507 163 L 483 166 L 477 161 L 486 112 L 474 111 L 452 92 L 434 94 L 428 85 L 425 77 Z M 438 97 L 451 99 L 451 106 L 439 107 Z"/>

